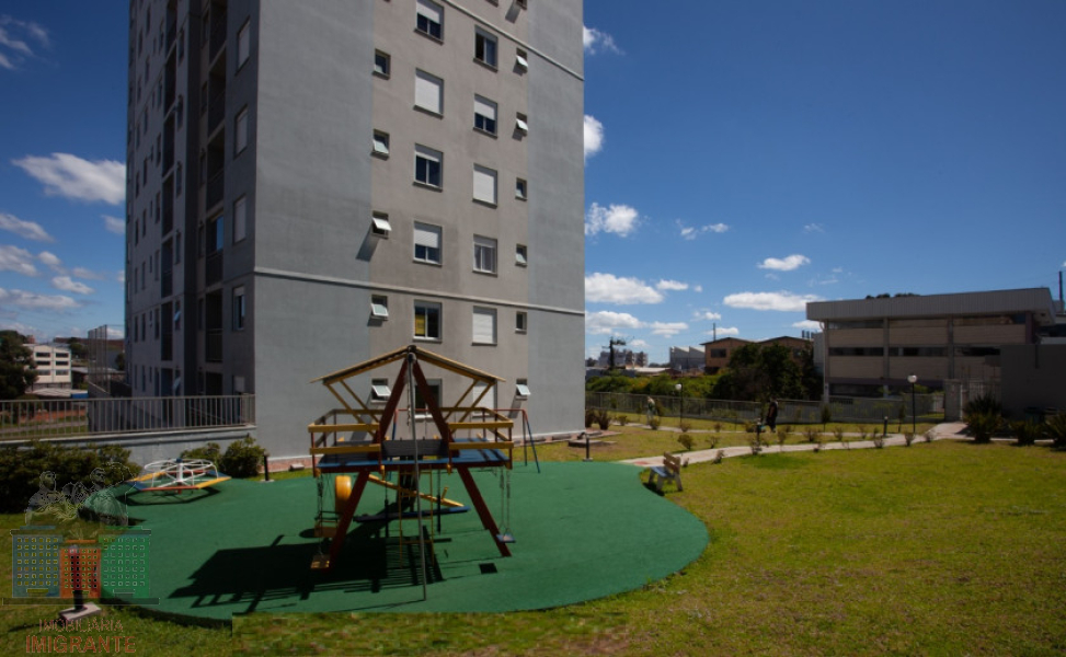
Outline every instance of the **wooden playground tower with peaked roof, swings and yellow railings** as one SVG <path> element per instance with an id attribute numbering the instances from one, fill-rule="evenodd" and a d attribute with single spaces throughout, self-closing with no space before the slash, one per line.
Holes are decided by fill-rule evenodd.
<path id="1" fill-rule="evenodd" d="M 353 377 L 397 361 L 402 364 L 383 407 L 371 408 L 348 385 L 348 380 Z M 469 381 L 469 385 L 455 406 L 439 405 L 426 382 L 421 364 L 435 366 Z M 496 411 L 478 406 L 500 381 L 502 379 L 493 374 L 426 351 L 416 345 L 383 354 L 312 381 L 312 383 L 322 382 L 343 407 L 334 408 L 308 425 L 311 440 L 310 453 L 313 459 L 312 471 L 318 480 L 319 492 L 314 530 L 317 535 L 329 541 L 329 552 L 322 550 L 316 555 L 311 567 L 323 570 L 332 568 L 341 555 L 344 538 L 353 519 L 357 522 L 388 522 L 396 519 L 400 521 L 400 544 L 421 545 L 424 569 L 426 541 L 432 545 L 433 538 L 426 532 L 423 520 L 436 517 L 439 528 L 440 516 L 468 510 L 460 503 L 447 499 L 444 496 L 446 491 L 439 489 L 440 474 L 445 471 L 449 474 L 452 472 L 459 474 L 482 527 L 492 537 L 500 554 L 511 556 L 507 548 L 508 543 L 514 542 L 511 528 L 505 526 L 505 531 L 501 531 L 496 526 L 470 472 L 473 469 L 496 469 L 502 481 L 506 480 L 506 484 L 502 484 L 501 492 L 509 495 L 509 471 L 514 449 L 511 433 L 514 422 Z M 479 385 L 480 393 L 478 393 Z M 416 407 L 415 390 L 422 396 L 422 407 Z M 404 413 L 400 408 L 404 392 L 409 397 L 405 424 L 410 430 L 410 435 L 405 438 L 397 436 L 397 428 L 401 424 L 399 419 L 401 413 Z M 468 399 L 469 403 L 465 404 Z M 421 438 L 417 436 L 420 420 L 423 429 Z M 427 437 L 429 427 L 435 431 L 433 438 Z M 459 437 L 457 434 L 465 434 L 466 437 Z M 360 436 L 364 438 L 360 439 Z M 431 487 L 432 475 L 437 473 L 436 495 L 421 489 L 424 471 L 431 474 Z M 354 480 L 348 476 L 351 474 L 355 475 Z M 392 475 L 397 476 L 396 483 L 390 481 Z M 333 479 L 332 510 L 328 508 L 326 503 L 326 491 L 330 487 L 326 481 L 330 477 Z M 386 508 L 381 514 L 356 517 L 355 511 L 367 484 L 376 484 L 383 488 Z M 389 491 L 397 494 L 394 509 L 388 503 Z M 434 506 L 423 509 L 423 502 Z M 509 500 L 505 503 L 504 508 L 509 515 Z M 402 522 L 404 518 L 417 522 L 413 539 L 408 539 L 404 533 Z M 509 523 L 509 520 L 507 522 Z M 431 531 L 432 528 L 431 522 Z"/>

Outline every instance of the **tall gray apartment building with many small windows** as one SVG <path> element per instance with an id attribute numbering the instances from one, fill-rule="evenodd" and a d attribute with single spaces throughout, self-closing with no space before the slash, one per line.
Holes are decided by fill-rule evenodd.
<path id="1" fill-rule="evenodd" d="M 580 0 L 131 0 L 129 35 L 135 396 L 253 393 L 298 457 L 312 379 L 417 344 L 581 428 Z"/>

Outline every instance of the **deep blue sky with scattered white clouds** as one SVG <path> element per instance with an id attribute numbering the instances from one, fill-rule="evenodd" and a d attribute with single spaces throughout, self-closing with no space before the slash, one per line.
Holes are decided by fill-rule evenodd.
<path id="1" fill-rule="evenodd" d="M 586 351 L 1051 287 L 1066 2 L 585 2 Z M 126 3 L 0 3 L 0 327 L 123 321 Z"/>

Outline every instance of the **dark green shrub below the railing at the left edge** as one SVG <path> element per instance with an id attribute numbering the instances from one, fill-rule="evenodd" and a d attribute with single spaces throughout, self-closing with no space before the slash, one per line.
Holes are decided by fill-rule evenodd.
<path id="1" fill-rule="evenodd" d="M 140 472 L 140 466 L 129 461 L 129 450 L 116 445 L 65 447 L 35 440 L 28 447 L 0 447 L 0 511 L 24 511 L 44 472 L 55 473 L 58 491 L 77 482 L 90 485 L 89 475 L 96 468 L 107 473 L 108 485 Z"/>

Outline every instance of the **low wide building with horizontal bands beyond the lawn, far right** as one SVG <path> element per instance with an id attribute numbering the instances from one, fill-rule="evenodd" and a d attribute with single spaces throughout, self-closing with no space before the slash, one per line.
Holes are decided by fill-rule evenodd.
<path id="1" fill-rule="evenodd" d="M 1047 288 L 897 296 L 807 303 L 828 394 L 871 395 L 885 387 L 1000 379 L 1002 350 L 1039 342 L 1055 323 Z"/>

